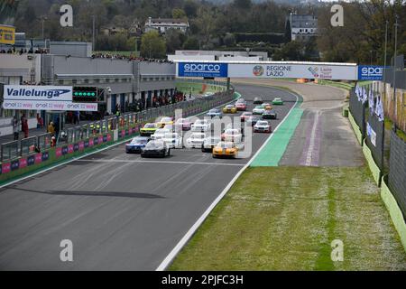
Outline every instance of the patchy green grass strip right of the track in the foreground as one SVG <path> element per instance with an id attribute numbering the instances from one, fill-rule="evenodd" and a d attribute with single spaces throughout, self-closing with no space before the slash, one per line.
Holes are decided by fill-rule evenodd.
<path id="1" fill-rule="evenodd" d="M 331 241 L 344 261 L 331 261 Z M 405 270 L 369 170 L 248 168 L 170 270 Z"/>

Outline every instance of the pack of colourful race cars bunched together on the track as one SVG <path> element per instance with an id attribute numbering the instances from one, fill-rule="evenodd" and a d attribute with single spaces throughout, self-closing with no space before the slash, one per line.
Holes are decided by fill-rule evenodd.
<path id="1" fill-rule="evenodd" d="M 127 154 L 141 154 L 142 157 L 171 155 L 171 149 L 201 149 L 204 153 L 211 153 L 214 158 L 236 158 L 238 152 L 244 149 L 245 129 L 251 126 L 254 133 L 272 133 L 269 119 L 277 119 L 275 106 L 282 106 L 281 98 L 273 98 L 272 102 L 265 102 L 262 98 L 254 98 L 254 108 L 247 111 L 245 98 L 238 98 L 235 103 L 228 104 L 222 109 L 212 108 L 204 118 L 159 117 L 154 123 L 147 123 L 141 128 L 140 136 L 125 144 Z M 242 112 L 238 122 L 222 122 L 226 115 L 232 116 Z M 225 127 L 221 134 L 214 129 L 218 124 Z M 222 127 L 221 126 L 221 127 Z"/>

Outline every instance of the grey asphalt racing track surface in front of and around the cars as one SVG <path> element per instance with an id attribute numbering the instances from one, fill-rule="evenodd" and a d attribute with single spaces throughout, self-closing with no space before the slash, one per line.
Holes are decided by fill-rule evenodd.
<path id="1" fill-rule="evenodd" d="M 248 100 L 296 97 L 236 85 Z M 253 153 L 269 134 L 254 134 Z M 213 159 L 172 150 L 165 159 L 125 154 L 124 144 L 67 163 L 0 191 L 0 270 L 154 270 L 250 159 Z M 61 262 L 60 241 L 73 243 Z"/>

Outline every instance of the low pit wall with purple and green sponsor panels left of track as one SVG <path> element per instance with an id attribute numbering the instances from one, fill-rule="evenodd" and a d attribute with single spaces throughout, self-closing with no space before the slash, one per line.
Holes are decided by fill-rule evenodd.
<path id="1" fill-rule="evenodd" d="M 190 110 L 190 115 L 196 115 L 202 113 L 210 107 L 217 107 L 217 104 L 221 105 L 222 103 L 227 103 L 232 101 L 235 98 L 236 94 L 234 91 L 230 91 L 227 95 L 222 93 L 220 94 L 219 102 L 216 98 L 207 98 L 200 99 L 194 104 L 194 108 Z M 209 101 L 209 102 L 208 102 Z M 183 103 L 184 106 L 186 103 Z M 199 106 L 198 106 L 199 105 Z M 188 104 L 189 106 L 189 104 Z M 163 108 L 163 107 L 161 107 Z M 175 105 L 171 106 L 172 111 L 165 110 L 167 115 L 174 115 L 174 109 L 183 108 Z M 162 113 L 163 110 L 160 110 Z M 185 113 L 185 112 L 184 112 Z M 143 115 L 143 114 L 141 114 Z M 162 115 L 163 116 L 163 115 Z M 138 115 L 137 115 L 138 117 Z M 128 119 L 128 118 L 127 118 Z M 130 139 L 137 135 L 140 131 L 140 128 L 148 121 L 154 121 L 155 119 L 150 116 L 143 117 L 142 122 L 134 123 L 133 126 L 129 126 L 127 122 L 125 126 L 118 127 L 118 141 L 123 141 L 125 139 Z M 78 156 L 80 154 L 89 153 L 91 151 L 101 148 L 103 145 L 113 144 L 114 141 L 114 131 L 108 131 L 103 134 L 91 134 L 89 132 L 89 125 L 87 126 L 87 134 L 83 139 L 78 139 L 74 143 L 60 143 L 57 147 L 52 147 L 50 149 L 44 150 L 41 153 L 32 153 L 24 155 L 13 160 L 7 161 L 0 164 L 0 184 L 9 182 L 10 180 L 16 177 L 23 177 L 32 172 L 39 171 L 45 166 L 51 166 L 63 161 L 66 161 L 69 158 Z M 110 125 L 108 125 L 110 126 Z"/>

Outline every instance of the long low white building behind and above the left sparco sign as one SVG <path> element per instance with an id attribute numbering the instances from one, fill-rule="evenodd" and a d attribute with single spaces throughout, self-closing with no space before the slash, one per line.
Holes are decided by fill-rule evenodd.
<path id="1" fill-rule="evenodd" d="M 268 61 L 263 51 L 175 51 L 170 61 Z"/>

